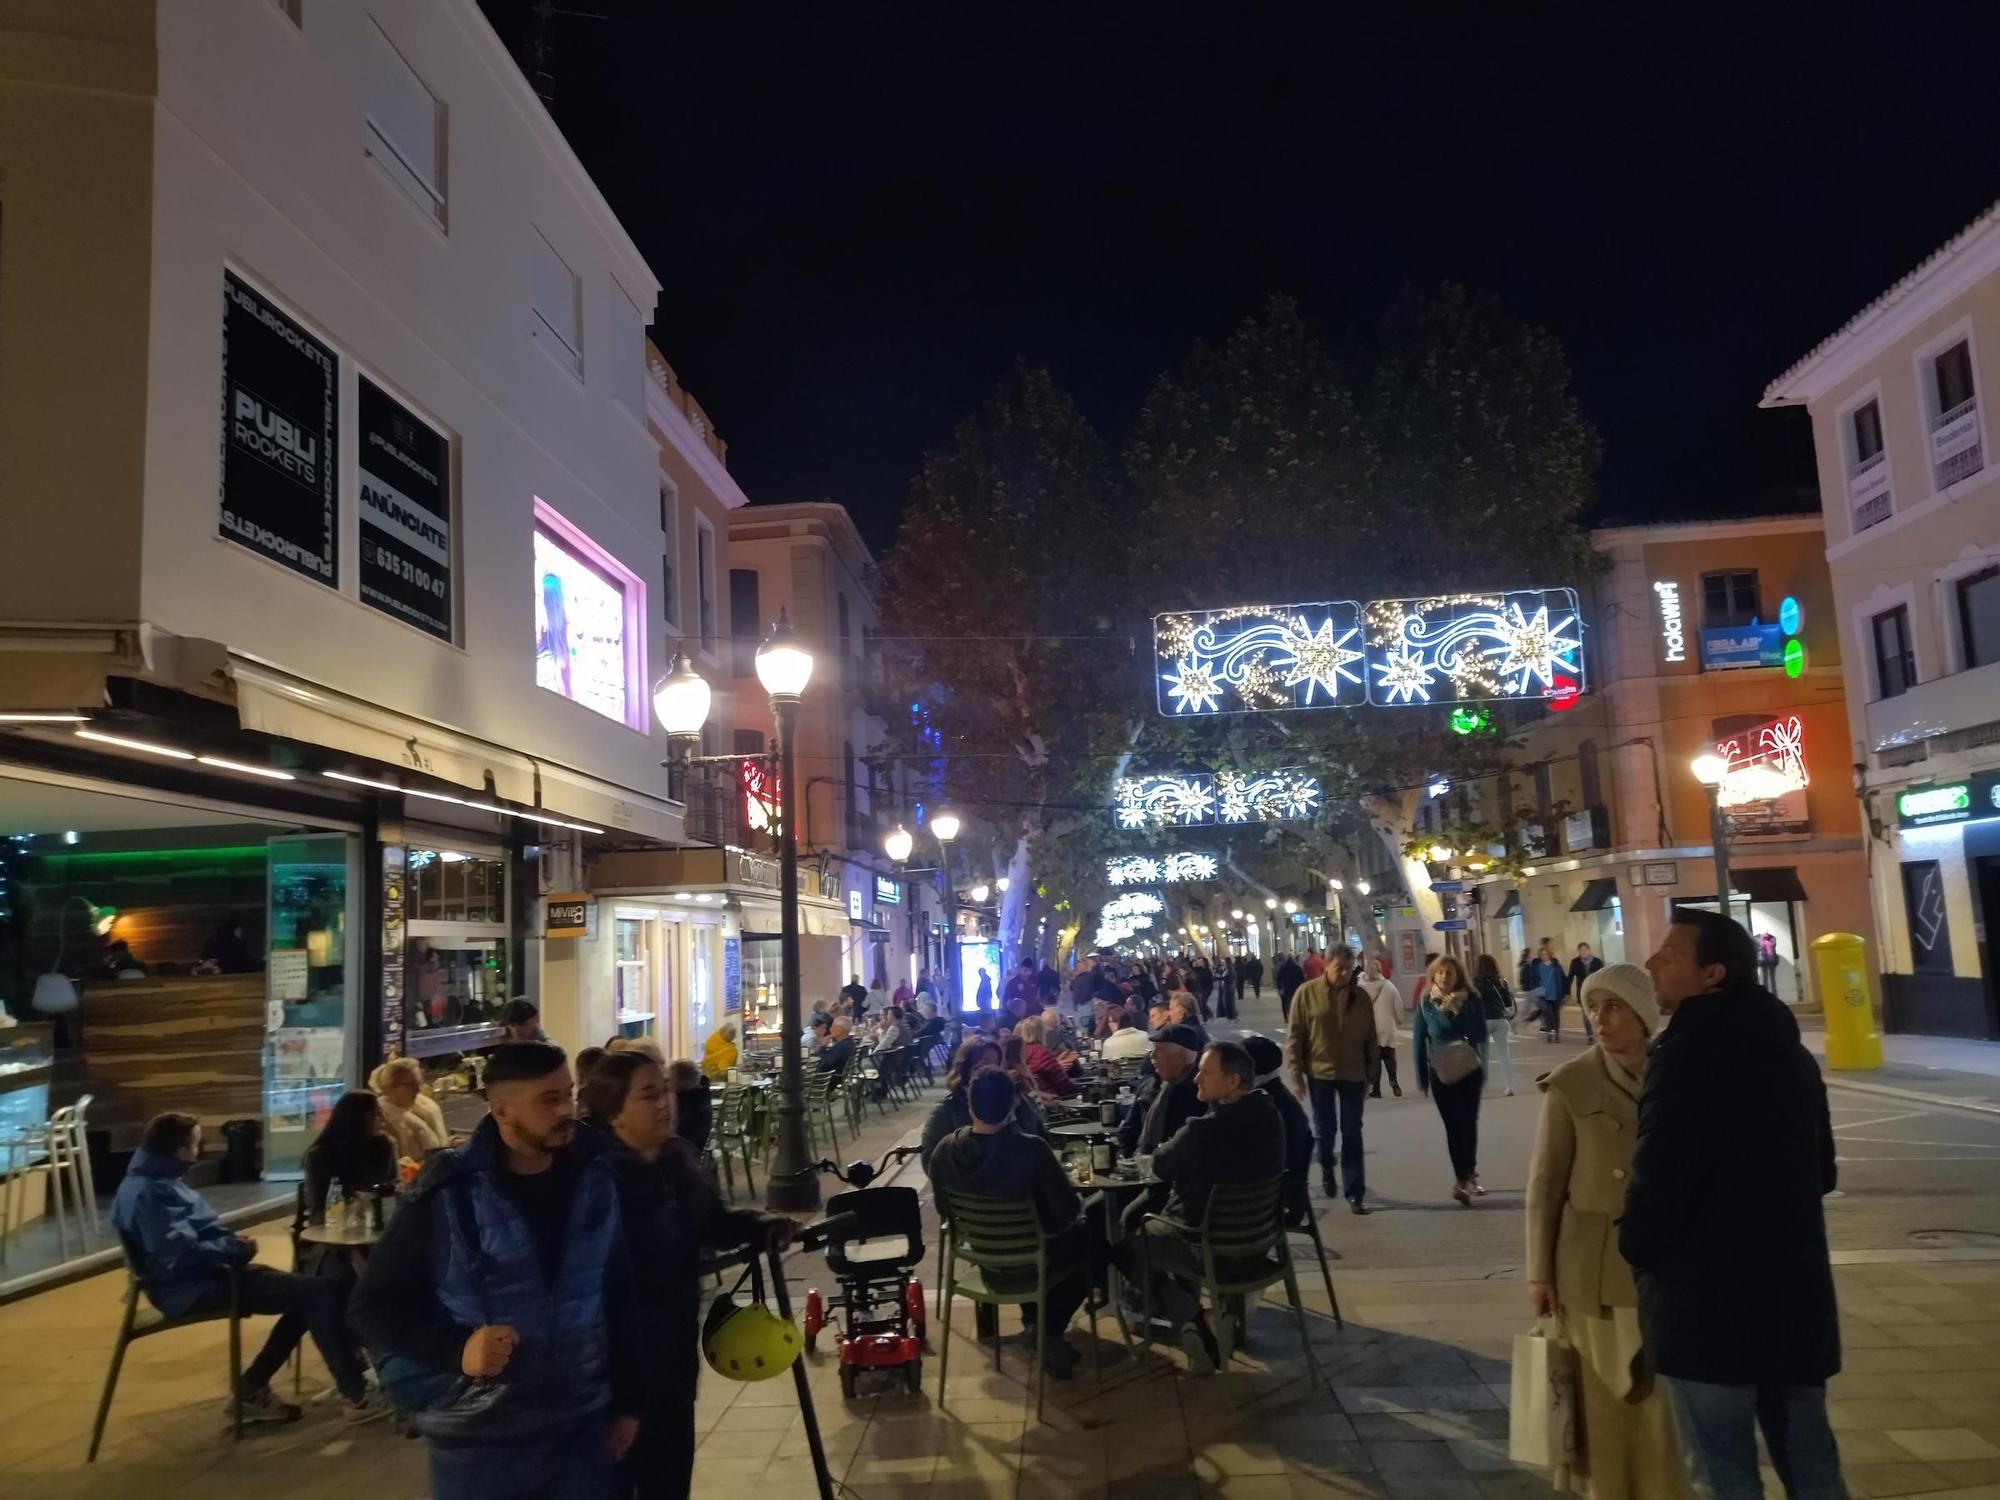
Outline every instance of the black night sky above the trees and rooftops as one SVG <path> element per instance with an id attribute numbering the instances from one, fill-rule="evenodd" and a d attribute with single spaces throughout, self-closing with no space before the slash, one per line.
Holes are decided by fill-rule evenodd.
<path id="1" fill-rule="evenodd" d="M 1270 292 L 1340 340 L 1438 280 L 1566 344 L 1600 518 L 1812 504 L 1764 384 L 2000 198 L 1990 4 L 560 2 L 656 342 L 752 500 L 876 548 L 1014 358 L 1122 442 Z M 530 4 L 482 4 L 518 50 Z"/>

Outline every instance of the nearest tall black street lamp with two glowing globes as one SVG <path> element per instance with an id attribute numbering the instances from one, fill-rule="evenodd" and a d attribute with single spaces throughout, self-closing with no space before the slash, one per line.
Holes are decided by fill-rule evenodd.
<path id="1" fill-rule="evenodd" d="M 806 1150 L 806 1098 L 800 1066 L 800 1034 L 804 1006 L 798 964 L 798 818 L 794 790 L 794 728 L 798 702 L 812 682 L 812 652 L 794 634 L 784 610 L 762 646 L 756 648 L 756 678 L 770 694 L 770 712 L 778 724 L 778 932 L 782 1004 L 778 1036 L 778 1138 L 764 1180 L 764 1206 L 778 1214 L 810 1214 L 820 1206 L 820 1174 Z M 686 766 L 740 764 L 762 760 L 748 756 L 702 756 L 702 726 L 714 692 L 694 670 L 686 652 L 674 652 L 668 672 L 652 690 L 652 712 L 666 730 L 670 770 Z"/>

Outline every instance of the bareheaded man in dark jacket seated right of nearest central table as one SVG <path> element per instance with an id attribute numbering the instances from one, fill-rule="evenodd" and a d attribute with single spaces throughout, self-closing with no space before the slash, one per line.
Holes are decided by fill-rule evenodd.
<path id="1" fill-rule="evenodd" d="M 1216 1188 L 1252 1186 L 1284 1174 L 1284 1120 L 1256 1086 L 1256 1064 L 1236 1042 L 1210 1044 L 1194 1078 L 1206 1108 L 1154 1152 L 1152 1170 L 1168 1186 L 1168 1218 L 1200 1226 Z M 1202 1314 L 1200 1296 L 1182 1280 L 1202 1274 L 1200 1246 L 1170 1224 L 1152 1220 L 1138 1240 L 1124 1240 L 1120 1250 L 1126 1274 L 1138 1274 L 1142 1264 L 1152 1270 L 1154 1306 L 1184 1330 L 1190 1372 L 1214 1374 L 1222 1366 L 1222 1350 Z M 1226 1266 L 1218 1270 L 1230 1274 Z"/>

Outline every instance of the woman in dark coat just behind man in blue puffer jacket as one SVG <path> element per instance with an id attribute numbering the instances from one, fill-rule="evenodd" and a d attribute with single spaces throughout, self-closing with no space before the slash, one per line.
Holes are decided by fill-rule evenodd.
<path id="1" fill-rule="evenodd" d="M 694 1482 L 694 1382 L 702 1368 L 702 1256 L 784 1246 L 790 1220 L 734 1210 L 702 1180 L 674 1136 L 674 1090 L 644 1052 L 612 1052 L 584 1084 L 584 1118 L 608 1132 L 618 1210 L 638 1272 L 642 1344 L 650 1350 L 646 1410 L 622 1466 L 622 1494 L 686 1500 Z"/>

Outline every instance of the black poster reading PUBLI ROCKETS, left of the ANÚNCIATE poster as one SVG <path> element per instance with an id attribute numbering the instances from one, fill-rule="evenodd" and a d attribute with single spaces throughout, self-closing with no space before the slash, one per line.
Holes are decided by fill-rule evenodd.
<path id="1" fill-rule="evenodd" d="M 222 520 L 232 542 L 338 582 L 334 352 L 222 274 Z"/>

